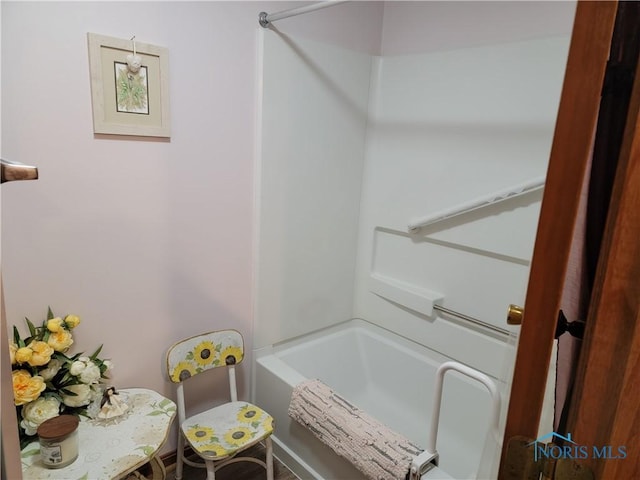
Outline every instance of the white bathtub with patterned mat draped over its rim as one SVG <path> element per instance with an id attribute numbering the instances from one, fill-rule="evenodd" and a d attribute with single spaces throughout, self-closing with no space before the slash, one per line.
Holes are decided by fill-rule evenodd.
<path id="1" fill-rule="evenodd" d="M 295 385 L 317 378 L 405 437 L 426 444 L 438 366 L 449 358 L 364 320 L 354 319 L 255 355 L 253 401 L 276 419 L 274 449 L 300 478 L 364 478 L 287 409 Z M 497 382 L 502 390 L 502 385 Z M 437 450 L 440 468 L 456 479 L 476 478 L 495 454 L 487 390 L 458 373 L 444 381 Z M 481 462 L 481 459 L 484 459 Z M 489 460 L 487 460 L 489 459 Z M 485 463 L 483 465 L 483 463 Z"/>

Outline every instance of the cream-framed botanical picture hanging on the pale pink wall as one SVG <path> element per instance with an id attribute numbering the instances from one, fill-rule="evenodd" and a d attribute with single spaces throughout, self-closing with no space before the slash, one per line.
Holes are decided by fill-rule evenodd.
<path id="1" fill-rule="evenodd" d="M 135 37 L 87 38 L 94 133 L 170 137 L 168 50 Z"/>

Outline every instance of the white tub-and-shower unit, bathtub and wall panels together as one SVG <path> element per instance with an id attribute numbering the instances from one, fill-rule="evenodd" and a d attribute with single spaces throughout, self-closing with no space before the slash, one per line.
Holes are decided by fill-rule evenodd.
<path id="1" fill-rule="evenodd" d="M 453 359 L 507 394 L 516 330 L 506 309 L 524 301 L 541 193 L 418 233 L 407 226 L 544 176 L 568 36 L 395 57 L 276 31 L 260 37 L 252 395 L 276 417 L 280 458 L 303 478 L 339 478 L 349 466 L 287 418 L 296 382 L 319 378 L 418 442 L 432 387 L 420 365 Z M 401 295 L 380 294 L 381 278 Z M 429 294 L 506 334 L 415 301 Z M 445 382 L 445 405 L 457 413 L 441 419 L 451 435 L 441 462 L 467 478 L 494 468 L 497 450 L 485 442 L 486 392 L 456 382 Z"/>

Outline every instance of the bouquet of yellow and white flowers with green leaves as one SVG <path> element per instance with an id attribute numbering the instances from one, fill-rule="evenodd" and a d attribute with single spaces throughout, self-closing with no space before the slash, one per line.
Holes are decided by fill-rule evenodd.
<path id="1" fill-rule="evenodd" d="M 51 308 L 42 326 L 25 318 L 29 336 L 21 338 L 13 327 L 9 344 L 13 396 L 17 409 L 20 443 L 34 440 L 38 426 L 61 413 L 92 417 L 100 408 L 102 379 L 112 364 L 98 358 L 102 345 L 90 356 L 67 356 L 77 315 L 56 317 Z"/>

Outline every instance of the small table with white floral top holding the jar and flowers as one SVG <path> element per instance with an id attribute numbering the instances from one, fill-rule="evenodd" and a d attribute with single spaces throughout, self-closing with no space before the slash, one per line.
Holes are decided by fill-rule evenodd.
<path id="1" fill-rule="evenodd" d="M 176 404 L 153 390 L 119 390 L 129 410 L 121 418 L 96 421 L 81 417 L 79 455 L 64 468 L 49 469 L 40 461 L 38 441 L 21 452 L 25 480 L 122 479 L 144 464 L 167 440 Z"/>

